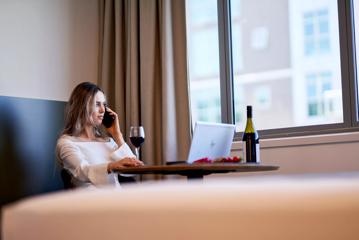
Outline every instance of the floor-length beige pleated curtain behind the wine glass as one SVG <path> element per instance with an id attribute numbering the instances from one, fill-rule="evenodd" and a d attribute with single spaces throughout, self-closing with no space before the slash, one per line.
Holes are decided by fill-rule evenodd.
<path id="1" fill-rule="evenodd" d="M 101 0 L 99 85 L 123 134 L 145 127 L 146 164 L 185 160 L 190 144 L 185 0 Z"/>

